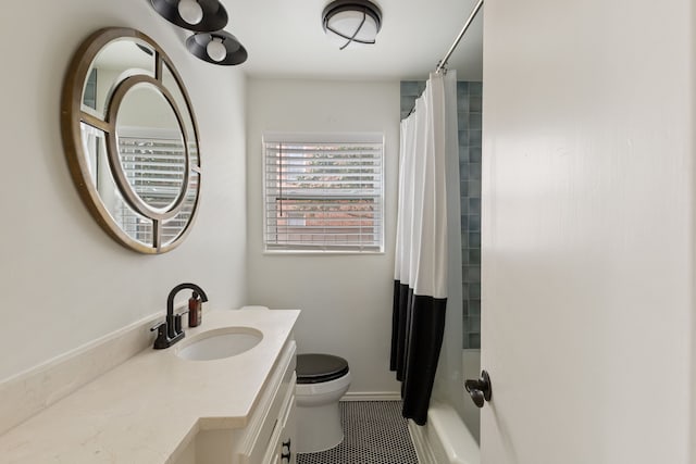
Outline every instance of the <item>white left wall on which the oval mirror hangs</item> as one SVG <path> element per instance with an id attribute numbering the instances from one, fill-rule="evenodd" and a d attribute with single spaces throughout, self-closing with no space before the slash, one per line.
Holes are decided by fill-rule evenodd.
<path id="1" fill-rule="evenodd" d="M 190 55 L 186 34 L 144 0 L 3 5 L 0 135 L 0 380 L 156 312 L 191 280 L 210 308 L 246 302 L 245 78 Z M 82 40 L 105 26 L 152 37 L 192 100 L 203 168 L 197 224 L 176 250 L 141 255 L 91 218 L 71 180 L 60 137 L 60 92 Z M 186 296 L 182 294 L 182 298 Z"/>

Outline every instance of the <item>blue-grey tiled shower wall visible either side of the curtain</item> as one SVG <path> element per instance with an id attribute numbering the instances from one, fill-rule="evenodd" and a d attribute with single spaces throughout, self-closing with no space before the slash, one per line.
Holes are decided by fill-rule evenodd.
<path id="1" fill-rule="evenodd" d="M 401 81 L 401 118 L 424 89 L 424 80 Z M 481 348 L 481 83 L 457 83 L 463 348 Z"/>

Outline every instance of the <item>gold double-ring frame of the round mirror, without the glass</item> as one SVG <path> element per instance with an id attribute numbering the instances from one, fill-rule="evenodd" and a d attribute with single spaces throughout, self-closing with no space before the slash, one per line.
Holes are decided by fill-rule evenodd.
<path id="1" fill-rule="evenodd" d="M 138 70 L 137 65 L 133 68 L 126 68 L 127 72 L 122 73 L 112 83 L 112 87 L 105 98 L 103 117 L 98 117 L 85 111 L 84 92 L 87 79 L 98 54 L 109 45 L 123 40 L 130 40 L 144 51 L 147 48 L 152 52 L 153 68 L 151 71 L 153 76 L 148 75 L 148 70 Z M 173 84 L 177 87 L 174 90 L 181 92 L 179 97 L 186 106 L 185 109 L 177 106 L 176 99 L 165 85 L 165 73 L 167 73 L 167 79 L 173 80 Z M 149 205 L 138 196 L 121 165 L 116 124 L 119 109 L 128 90 L 144 84 L 158 89 L 160 96 L 171 106 L 178 124 L 178 136 L 181 136 L 182 141 L 181 150 L 185 156 L 181 189 L 177 190 L 175 200 L 163 209 Z M 83 138 L 84 126 L 88 126 L 105 138 L 103 147 L 108 156 L 111 179 L 117 188 L 114 193 L 120 196 L 120 200 L 125 205 L 124 208 L 132 210 L 133 217 L 144 222 L 145 228 L 148 230 L 144 236 L 148 238 L 136 239 L 132 237 L 104 204 L 97 188 L 97 180 L 94 179 L 94 174 L 90 172 L 89 156 L 91 154 L 87 152 L 87 143 Z M 67 68 L 61 100 L 61 133 L 67 165 L 79 197 L 97 223 L 111 238 L 130 250 L 146 254 L 165 253 L 181 244 L 194 224 L 200 198 L 201 170 L 198 126 L 190 99 L 179 74 L 170 58 L 154 40 L 132 28 L 110 27 L 91 34 L 79 46 Z M 185 203 L 187 203 L 186 211 L 183 213 Z M 151 222 L 151 224 L 148 222 Z M 173 237 L 169 237 L 169 241 L 163 238 L 163 229 L 167 222 L 184 223 L 181 226 L 167 226 L 170 229 L 174 229 L 173 233 L 169 233 L 170 235 L 173 234 Z"/>

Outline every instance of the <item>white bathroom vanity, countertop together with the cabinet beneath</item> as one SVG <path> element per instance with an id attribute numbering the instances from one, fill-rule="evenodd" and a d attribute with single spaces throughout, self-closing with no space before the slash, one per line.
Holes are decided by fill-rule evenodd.
<path id="1" fill-rule="evenodd" d="M 295 463 L 298 315 L 207 312 L 179 343 L 138 353 L 0 436 L 2 461 Z M 260 339 L 219 359 L 183 356 L 211 335 L 237 333 Z"/>

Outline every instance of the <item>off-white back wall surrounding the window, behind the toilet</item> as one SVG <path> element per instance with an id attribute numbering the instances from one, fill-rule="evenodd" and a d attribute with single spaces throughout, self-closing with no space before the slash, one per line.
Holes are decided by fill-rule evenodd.
<path id="1" fill-rule="evenodd" d="M 386 253 L 269 255 L 262 243 L 261 136 L 269 131 L 383 131 Z M 248 83 L 249 302 L 302 310 L 299 352 L 346 358 L 352 392 L 397 392 L 389 368 L 399 83 L 250 79 Z"/>

